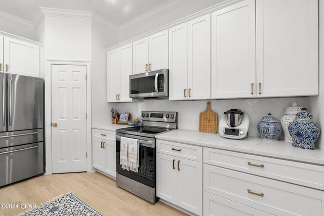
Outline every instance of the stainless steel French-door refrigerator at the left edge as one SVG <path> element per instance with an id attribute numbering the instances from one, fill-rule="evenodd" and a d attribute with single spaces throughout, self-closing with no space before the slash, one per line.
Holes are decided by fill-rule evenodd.
<path id="1" fill-rule="evenodd" d="M 44 173 L 44 81 L 0 73 L 0 187 Z"/>

